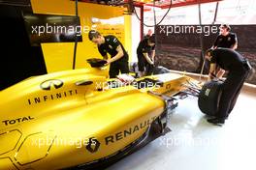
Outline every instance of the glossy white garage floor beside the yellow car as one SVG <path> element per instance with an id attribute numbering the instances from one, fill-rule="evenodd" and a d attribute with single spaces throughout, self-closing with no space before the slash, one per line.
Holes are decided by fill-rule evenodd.
<path id="1" fill-rule="evenodd" d="M 197 99 L 179 100 L 169 127 L 173 131 L 108 170 L 256 169 L 256 92 L 240 94 L 222 127 L 208 124 Z"/>

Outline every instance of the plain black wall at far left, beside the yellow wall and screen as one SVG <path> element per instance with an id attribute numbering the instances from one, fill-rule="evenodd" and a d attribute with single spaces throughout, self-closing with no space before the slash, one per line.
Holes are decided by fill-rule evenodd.
<path id="1" fill-rule="evenodd" d="M 47 73 L 41 46 L 31 46 L 22 13 L 32 13 L 28 0 L 0 2 L 0 90 L 27 77 Z"/>

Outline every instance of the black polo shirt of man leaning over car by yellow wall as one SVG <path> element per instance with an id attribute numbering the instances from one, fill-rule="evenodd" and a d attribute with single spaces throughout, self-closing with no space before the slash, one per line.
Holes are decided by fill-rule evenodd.
<path id="1" fill-rule="evenodd" d="M 115 61 L 127 61 L 128 62 L 128 54 L 126 50 L 124 49 L 121 42 L 118 41 L 118 39 L 112 35 L 104 36 L 105 42 L 98 45 L 98 50 L 101 53 L 102 56 L 106 56 L 107 53 L 109 53 L 112 57 L 114 57 L 118 52 L 116 51 L 116 48 L 118 45 L 121 45 L 123 50 L 123 57 L 121 57 L 119 60 Z"/>

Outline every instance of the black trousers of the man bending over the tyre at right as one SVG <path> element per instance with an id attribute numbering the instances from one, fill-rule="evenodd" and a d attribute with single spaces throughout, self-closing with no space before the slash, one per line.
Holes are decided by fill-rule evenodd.
<path id="1" fill-rule="evenodd" d="M 248 76 L 249 69 L 245 66 L 240 71 L 230 71 L 222 84 L 222 95 L 219 101 L 218 118 L 227 118 L 240 95 L 240 89 Z"/>

